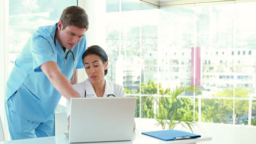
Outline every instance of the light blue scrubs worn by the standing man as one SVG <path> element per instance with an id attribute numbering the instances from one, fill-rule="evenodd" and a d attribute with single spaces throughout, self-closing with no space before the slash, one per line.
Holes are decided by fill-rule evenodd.
<path id="1" fill-rule="evenodd" d="M 51 85 L 40 69 L 45 62 L 54 61 L 68 80 L 74 68 L 84 68 L 82 55 L 86 49 L 85 37 L 69 52 L 66 62 L 61 45 L 54 35 L 57 24 L 39 27 L 27 41 L 15 61 L 5 90 L 5 109 L 11 139 L 28 139 L 54 135 L 54 111 L 61 94 Z"/>

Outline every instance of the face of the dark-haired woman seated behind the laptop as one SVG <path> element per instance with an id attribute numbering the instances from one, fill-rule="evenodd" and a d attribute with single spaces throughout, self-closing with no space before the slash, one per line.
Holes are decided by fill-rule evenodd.
<path id="1" fill-rule="evenodd" d="M 108 62 L 103 63 L 97 55 L 88 55 L 83 59 L 85 72 L 91 83 L 104 81 L 104 70 L 108 67 Z"/>

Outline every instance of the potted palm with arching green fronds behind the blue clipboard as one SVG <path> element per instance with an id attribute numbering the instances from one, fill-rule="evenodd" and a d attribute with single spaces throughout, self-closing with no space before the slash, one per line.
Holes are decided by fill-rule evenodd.
<path id="1" fill-rule="evenodd" d="M 184 113 L 184 115 L 179 115 L 177 113 L 177 107 L 173 104 L 177 99 L 178 95 L 183 92 L 195 92 L 201 94 L 201 90 L 193 86 L 177 86 L 170 93 L 170 97 L 162 95 L 152 95 L 154 101 L 156 102 L 156 111 L 150 112 L 150 115 L 158 122 L 157 125 L 161 125 L 162 129 L 173 129 L 177 124 L 181 124 L 185 128 L 189 128 L 193 133 L 194 125 L 196 124 L 193 114 Z M 165 104 L 168 100 L 168 105 Z"/>

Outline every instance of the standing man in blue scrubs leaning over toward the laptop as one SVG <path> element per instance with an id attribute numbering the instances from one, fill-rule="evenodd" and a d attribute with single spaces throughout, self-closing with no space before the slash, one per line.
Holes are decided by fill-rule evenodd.
<path id="1" fill-rule="evenodd" d="M 53 26 L 39 27 L 27 41 L 7 81 L 5 109 L 12 140 L 54 136 L 54 111 L 61 95 L 79 97 L 72 87 L 84 68 L 85 10 L 63 10 Z M 70 80 L 70 81 L 69 81 Z"/>

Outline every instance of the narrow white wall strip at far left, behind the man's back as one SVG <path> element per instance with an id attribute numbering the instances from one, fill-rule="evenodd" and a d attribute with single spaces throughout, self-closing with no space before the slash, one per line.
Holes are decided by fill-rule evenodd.
<path id="1" fill-rule="evenodd" d="M 2 118 L 5 140 L 8 140 L 8 127 L 4 109 L 4 89 L 8 75 L 8 0 L 0 1 L 0 115 Z"/>

